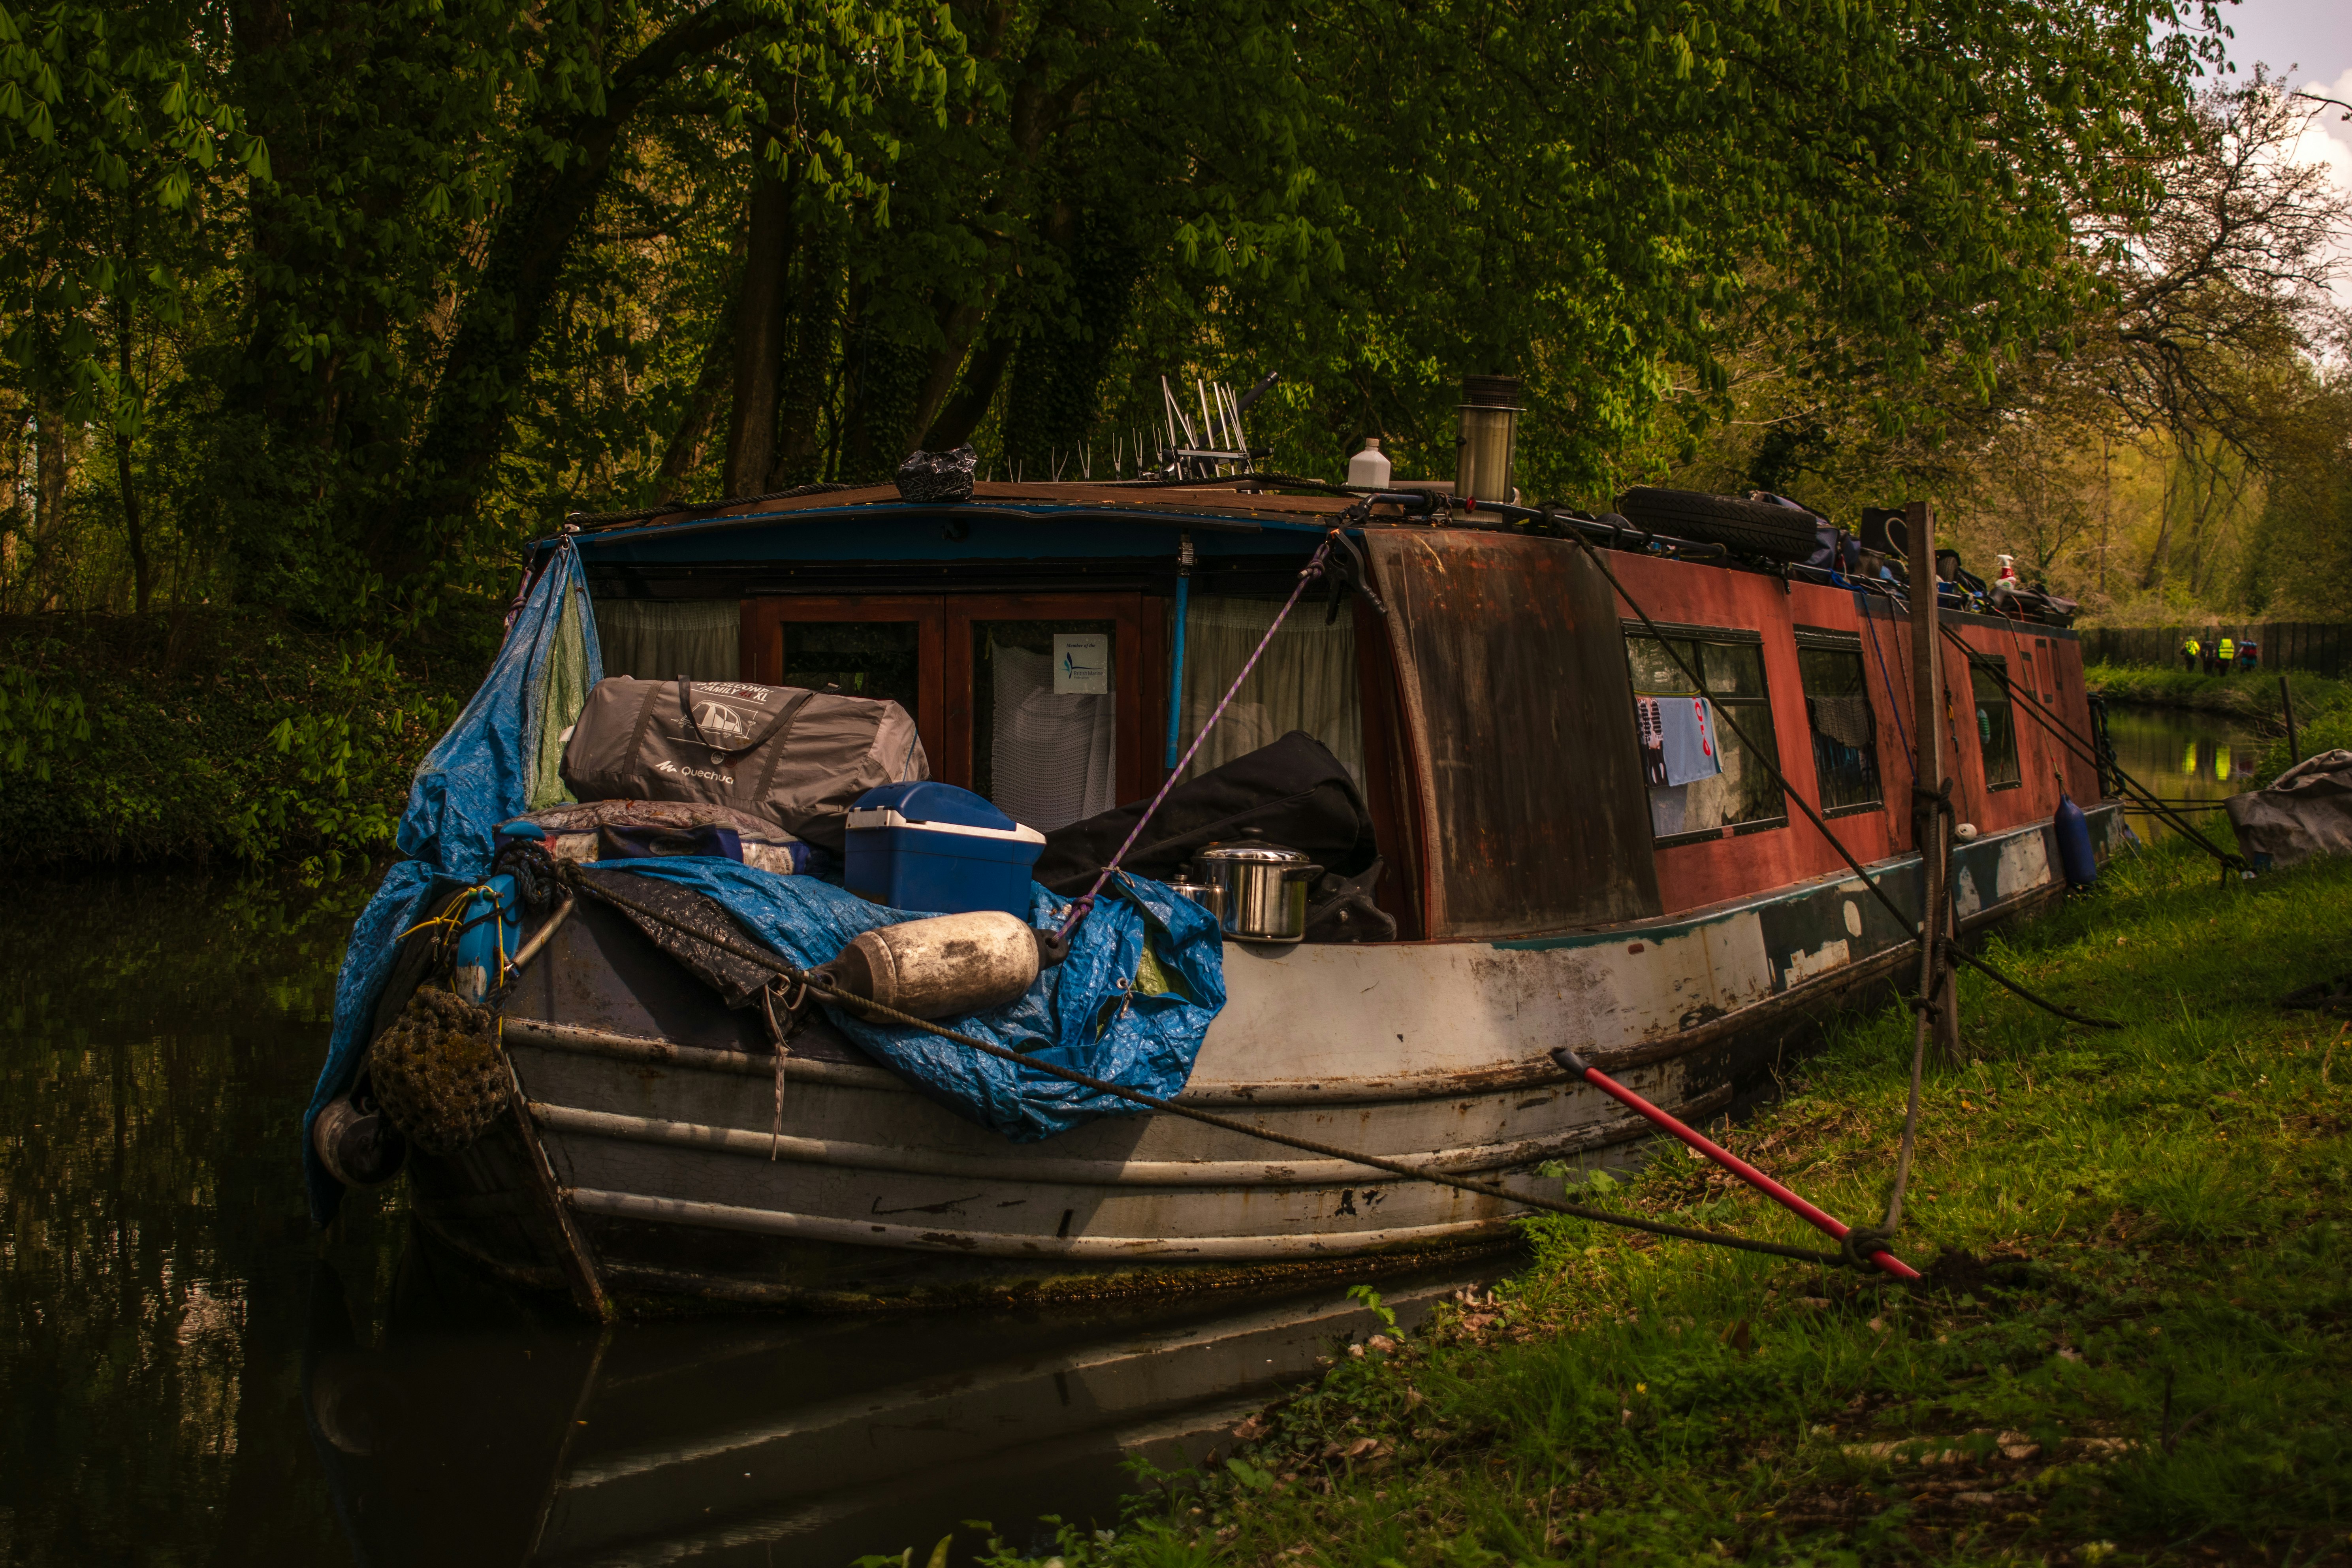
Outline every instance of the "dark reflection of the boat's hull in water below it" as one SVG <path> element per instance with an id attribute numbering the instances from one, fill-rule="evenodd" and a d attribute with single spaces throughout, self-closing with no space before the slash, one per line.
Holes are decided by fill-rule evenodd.
<path id="1" fill-rule="evenodd" d="M 1395 1281 L 1416 1319 L 1456 1279 Z M 828 1563 L 1042 1514 L 1117 1523 L 1164 1469 L 1378 1326 L 1338 1286 L 863 1319 L 513 1321 L 421 1237 L 367 1347 L 320 1286 L 303 1403 L 369 1563 Z M 506 1316 L 501 1316 L 506 1314 Z"/>

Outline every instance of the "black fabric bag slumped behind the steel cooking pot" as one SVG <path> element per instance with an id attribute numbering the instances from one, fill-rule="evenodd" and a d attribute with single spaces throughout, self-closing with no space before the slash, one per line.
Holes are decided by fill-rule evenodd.
<path id="1" fill-rule="evenodd" d="M 1129 802 L 1044 835 L 1033 875 L 1063 898 L 1084 893 L 1145 806 L 1150 799 Z M 1341 877 L 1362 872 L 1376 856 L 1371 813 L 1348 769 L 1322 741 L 1294 729 L 1169 790 L 1122 865 L 1167 882 L 1204 846 L 1244 835 L 1305 851 Z"/>

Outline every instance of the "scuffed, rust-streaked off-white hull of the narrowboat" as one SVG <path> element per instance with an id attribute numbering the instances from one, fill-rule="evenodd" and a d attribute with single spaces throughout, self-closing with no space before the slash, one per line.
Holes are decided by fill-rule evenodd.
<path id="1" fill-rule="evenodd" d="M 2117 825 L 2112 811 L 2093 816 L 2100 839 Z M 2053 896 L 2053 860 L 2046 827 L 1966 846 L 1964 919 Z M 1884 872 L 1912 889 L 1917 863 Z M 1649 1131 L 1566 1079 L 1552 1046 L 1705 1119 L 1910 952 L 1851 879 L 1559 938 L 1230 943 L 1228 1004 L 1183 1103 L 1437 1171 L 1526 1173 Z M 614 1288 L 816 1305 L 1120 1291 L 1423 1260 L 1491 1246 L 1524 1213 L 1174 1114 L 1014 1145 L 821 1025 L 786 1056 L 779 1124 L 774 1056 L 748 1018 L 666 969 L 635 931 L 579 917 L 548 959 L 508 997 L 506 1041 Z M 649 980 L 663 973 L 670 985 Z M 517 1138 L 419 1164 L 428 1225 L 508 1274 L 555 1284 Z"/>

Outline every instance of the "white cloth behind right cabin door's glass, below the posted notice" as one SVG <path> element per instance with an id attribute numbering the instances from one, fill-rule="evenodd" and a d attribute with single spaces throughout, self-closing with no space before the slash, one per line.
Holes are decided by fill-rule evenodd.
<path id="1" fill-rule="evenodd" d="M 990 639 L 995 736 L 988 799 L 1016 823 L 1054 832 L 1120 804 L 1110 691 L 1056 693 L 1054 656 Z"/>

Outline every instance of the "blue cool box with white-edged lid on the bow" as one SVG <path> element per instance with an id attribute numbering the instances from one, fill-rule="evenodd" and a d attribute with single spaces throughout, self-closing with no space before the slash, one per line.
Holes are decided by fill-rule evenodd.
<path id="1" fill-rule="evenodd" d="M 1042 853 L 1042 832 L 971 790 L 929 780 L 882 785 L 849 809 L 842 882 L 894 910 L 1004 910 L 1028 919 L 1030 867 Z"/>

